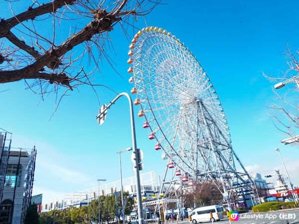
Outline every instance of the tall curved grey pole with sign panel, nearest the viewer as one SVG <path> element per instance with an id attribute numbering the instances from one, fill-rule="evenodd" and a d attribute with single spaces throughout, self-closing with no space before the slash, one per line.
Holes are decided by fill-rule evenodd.
<path id="1" fill-rule="evenodd" d="M 121 93 L 119 94 L 110 104 L 106 107 L 103 107 L 103 110 L 100 110 L 100 113 L 96 116 L 99 123 L 103 123 L 105 120 L 105 114 L 107 110 L 115 104 L 115 102 L 121 98 L 122 96 L 127 97 L 129 101 L 130 107 L 130 118 L 131 118 L 131 132 L 132 132 L 132 146 L 133 151 L 136 155 L 136 159 L 134 162 L 135 167 L 135 179 L 136 179 L 136 193 L 137 193 L 137 205 L 138 205 L 138 222 L 139 224 L 144 224 L 144 214 L 143 214 L 143 205 L 142 205 L 142 197 L 141 197 L 141 184 L 140 184 L 140 173 L 139 173 L 139 158 L 138 158 L 138 150 L 137 150 L 137 143 L 136 143 L 136 133 L 135 133 L 135 121 L 134 121 L 134 109 L 133 109 L 133 102 L 129 94 Z"/>

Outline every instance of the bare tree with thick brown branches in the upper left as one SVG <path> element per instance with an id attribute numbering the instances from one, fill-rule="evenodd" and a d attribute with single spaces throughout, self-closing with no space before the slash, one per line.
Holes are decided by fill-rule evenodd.
<path id="1" fill-rule="evenodd" d="M 134 19 L 157 4 L 152 0 L 14 1 L 27 10 L 13 11 L 8 0 L 12 15 L 0 19 L 0 83 L 25 80 L 42 96 L 57 93 L 59 87 L 68 91 L 92 85 L 91 74 L 99 70 L 99 61 L 105 57 L 111 63 L 108 33 L 119 23 L 127 35 L 126 26 L 133 26 Z M 90 68 L 80 65 L 85 59 Z"/>

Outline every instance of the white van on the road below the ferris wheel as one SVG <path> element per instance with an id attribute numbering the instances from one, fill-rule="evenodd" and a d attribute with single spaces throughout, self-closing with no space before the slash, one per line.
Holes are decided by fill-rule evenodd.
<path id="1" fill-rule="evenodd" d="M 207 207 L 201 207 L 194 209 L 189 217 L 191 217 L 190 221 L 192 223 L 201 223 L 205 221 L 219 221 L 223 219 L 223 208 L 221 208 L 219 205 L 213 205 L 213 206 L 207 206 Z M 212 213 L 212 218 L 210 213 Z"/>

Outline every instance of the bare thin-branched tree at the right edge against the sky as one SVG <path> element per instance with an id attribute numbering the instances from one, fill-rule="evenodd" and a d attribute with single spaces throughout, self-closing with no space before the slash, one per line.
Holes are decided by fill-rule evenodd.
<path id="1" fill-rule="evenodd" d="M 289 85 L 284 87 L 284 90 L 274 90 L 276 94 L 277 102 L 272 104 L 271 109 L 272 121 L 274 126 L 280 130 L 286 138 L 293 138 L 294 142 L 299 142 L 299 138 L 296 137 L 299 127 L 299 102 L 298 102 L 298 88 L 299 88 L 299 51 L 293 52 L 292 49 L 287 46 L 285 51 L 287 58 L 287 64 L 289 69 L 283 73 L 282 77 L 268 77 L 264 76 L 275 83 L 296 83 L 297 86 Z M 284 86 L 284 85 L 283 85 Z"/>

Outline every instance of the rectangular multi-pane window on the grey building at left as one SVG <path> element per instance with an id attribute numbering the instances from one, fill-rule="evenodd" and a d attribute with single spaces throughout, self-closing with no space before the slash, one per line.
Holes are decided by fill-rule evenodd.
<path id="1" fill-rule="evenodd" d="M 20 186 L 20 176 L 21 176 L 21 165 L 8 164 L 5 173 L 5 184 L 6 188 L 14 188 Z"/>

